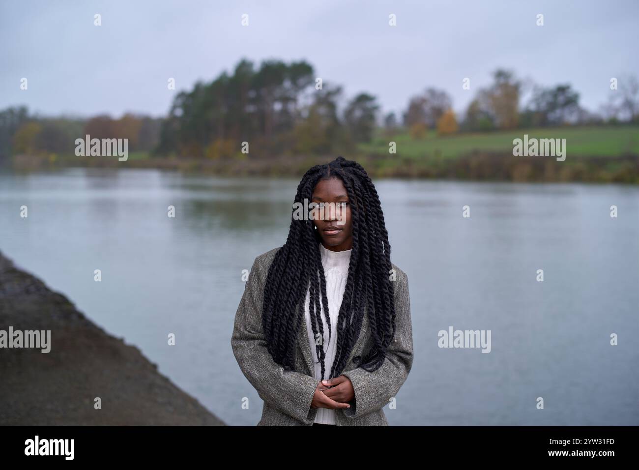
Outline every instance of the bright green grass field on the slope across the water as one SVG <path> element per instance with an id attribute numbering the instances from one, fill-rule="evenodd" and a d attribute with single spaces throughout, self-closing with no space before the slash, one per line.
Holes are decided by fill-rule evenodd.
<path id="1" fill-rule="evenodd" d="M 400 157 L 443 159 L 461 157 L 473 151 L 511 153 L 512 140 L 528 138 L 566 139 L 567 157 L 618 157 L 639 155 L 639 127 L 560 127 L 540 129 L 517 129 L 489 133 L 456 134 L 438 137 L 434 130 L 424 139 L 413 139 L 407 132 L 393 137 L 378 134 L 371 143 L 358 148 L 367 154 L 389 155 L 389 142 L 397 143 Z"/>

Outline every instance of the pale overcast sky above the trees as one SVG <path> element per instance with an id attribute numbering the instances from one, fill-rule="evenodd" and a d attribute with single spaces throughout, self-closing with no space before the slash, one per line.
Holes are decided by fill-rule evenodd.
<path id="1" fill-rule="evenodd" d="M 535 24 L 538 13 L 544 26 Z M 546 86 L 569 82 L 597 111 L 611 77 L 639 76 L 638 39 L 636 0 L 3 0 L 0 109 L 164 116 L 175 93 L 196 81 L 232 72 L 241 58 L 276 58 L 306 59 L 346 98 L 372 93 L 385 112 L 400 113 L 427 86 L 465 110 L 497 67 Z"/>

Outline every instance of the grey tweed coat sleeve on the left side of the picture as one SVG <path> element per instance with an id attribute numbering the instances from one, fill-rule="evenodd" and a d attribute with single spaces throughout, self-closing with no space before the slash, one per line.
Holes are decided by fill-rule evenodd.
<path id="1" fill-rule="evenodd" d="M 267 272 L 258 258 L 250 270 L 235 314 L 231 348 L 242 373 L 262 400 L 305 425 L 311 425 L 311 402 L 319 380 L 284 370 L 268 352 L 262 328 L 262 297 Z"/>

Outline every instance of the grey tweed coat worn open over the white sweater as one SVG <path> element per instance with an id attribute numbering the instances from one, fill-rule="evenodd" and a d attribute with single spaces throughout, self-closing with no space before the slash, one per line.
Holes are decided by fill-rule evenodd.
<path id="1" fill-rule="evenodd" d="M 311 346 L 306 328 L 299 328 L 293 370 L 275 363 L 266 349 L 262 330 L 262 300 L 268 267 L 279 248 L 259 255 L 250 270 L 231 336 L 233 354 L 243 374 L 264 400 L 258 426 L 311 426 L 317 409 L 311 408 L 319 380 L 314 379 Z M 396 265 L 396 331 L 382 366 L 368 372 L 358 366 L 371 347 L 368 315 L 364 312 L 360 335 L 348 357 L 343 375 L 353 384 L 350 409 L 335 410 L 337 426 L 388 426 L 383 406 L 396 396 L 413 363 L 408 278 Z"/>

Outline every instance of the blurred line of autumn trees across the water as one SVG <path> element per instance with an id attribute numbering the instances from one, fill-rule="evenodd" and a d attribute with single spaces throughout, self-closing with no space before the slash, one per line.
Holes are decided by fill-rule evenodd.
<path id="1" fill-rule="evenodd" d="M 522 104 L 523 95 L 530 97 Z M 461 116 L 445 90 L 426 88 L 411 97 L 398 118 L 382 113 L 376 97 L 344 97 L 343 87 L 316 77 L 307 61 L 263 61 L 256 67 L 242 59 L 232 73 L 174 97 L 165 118 L 141 114 L 81 118 L 29 115 L 24 106 L 0 111 L 0 160 L 15 154 L 73 154 L 74 141 L 86 134 L 128 138 L 131 152 L 163 157 L 245 158 L 273 155 L 353 152 L 381 127 L 387 136 L 408 130 L 415 139 L 435 131 L 457 132 L 555 127 L 559 125 L 639 122 L 639 81 L 620 79 L 619 88 L 599 113 L 580 105 L 570 84 L 543 87 L 498 69 L 491 83 L 479 88 Z"/>

